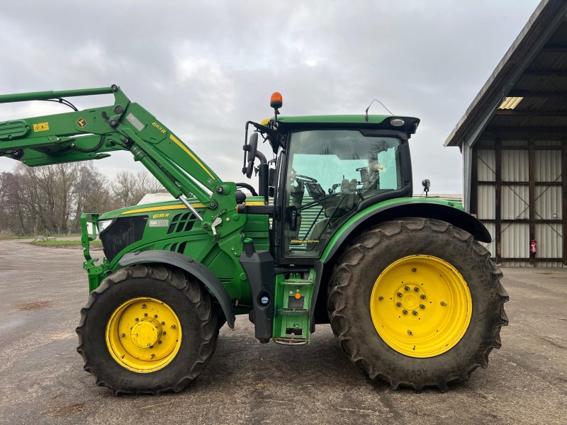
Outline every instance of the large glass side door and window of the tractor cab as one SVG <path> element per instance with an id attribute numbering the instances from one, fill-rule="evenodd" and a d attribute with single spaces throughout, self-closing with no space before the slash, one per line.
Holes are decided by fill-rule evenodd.
<path id="1" fill-rule="evenodd" d="M 359 130 L 293 132 L 286 184 L 288 256 L 318 256 L 361 200 L 403 186 L 400 140 Z"/>

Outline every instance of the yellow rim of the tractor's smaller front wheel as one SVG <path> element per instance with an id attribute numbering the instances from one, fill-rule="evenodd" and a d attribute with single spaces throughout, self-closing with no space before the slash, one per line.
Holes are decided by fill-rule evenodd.
<path id="1" fill-rule="evenodd" d="M 164 368 L 181 346 L 181 324 L 172 307 L 155 298 L 133 298 L 114 310 L 106 346 L 119 365 L 138 373 Z"/>

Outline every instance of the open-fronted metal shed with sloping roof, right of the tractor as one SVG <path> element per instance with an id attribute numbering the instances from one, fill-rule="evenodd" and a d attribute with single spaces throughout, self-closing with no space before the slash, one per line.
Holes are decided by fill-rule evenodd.
<path id="1" fill-rule="evenodd" d="M 445 146 L 498 263 L 567 266 L 567 1 L 541 1 Z"/>

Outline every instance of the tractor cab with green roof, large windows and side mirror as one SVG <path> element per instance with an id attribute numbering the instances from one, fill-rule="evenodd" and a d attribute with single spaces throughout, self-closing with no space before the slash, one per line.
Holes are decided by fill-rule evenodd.
<path id="1" fill-rule="evenodd" d="M 412 196 L 408 140 L 420 123 L 417 118 L 278 114 L 276 109 L 273 119 L 253 123 L 257 132 L 252 137 L 262 135 L 276 155 L 275 170 L 262 169 L 261 160 L 258 171 L 260 188 L 268 187 L 274 196 L 276 255 L 283 262 L 319 258 L 335 230 L 355 212 Z M 257 142 L 245 150 L 250 145 L 256 152 Z M 245 169 L 252 170 L 253 159 Z"/>

